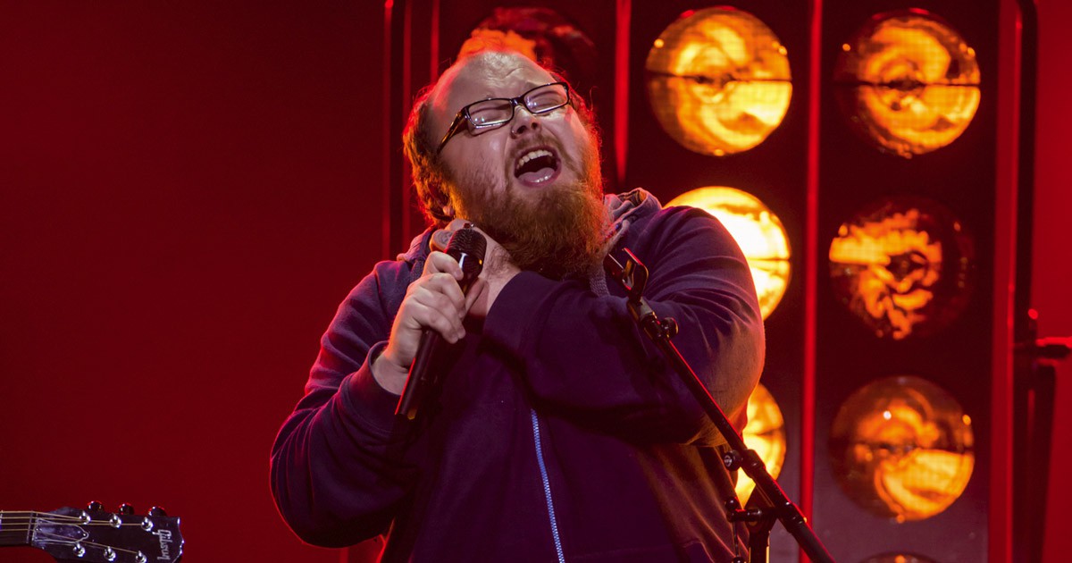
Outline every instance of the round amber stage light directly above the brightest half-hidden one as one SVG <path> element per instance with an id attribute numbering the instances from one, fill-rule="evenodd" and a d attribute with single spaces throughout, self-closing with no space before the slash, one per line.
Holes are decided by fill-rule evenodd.
<path id="1" fill-rule="evenodd" d="M 732 8 L 682 14 L 655 40 L 645 68 L 659 124 L 701 154 L 759 145 L 792 95 L 786 48 L 756 16 Z"/>

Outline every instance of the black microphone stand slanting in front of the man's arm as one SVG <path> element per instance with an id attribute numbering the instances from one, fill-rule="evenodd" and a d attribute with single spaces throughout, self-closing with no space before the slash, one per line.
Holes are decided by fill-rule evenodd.
<path id="1" fill-rule="evenodd" d="M 726 414 L 715 403 L 703 382 L 670 341 L 678 334 L 678 323 L 670 317 L 660 321 L 655 311 L 644 301 L 642 294 L 647 284 L 647 267 L 629 249 L 625 249 L 625 253 L 628 254 L 629 260 L 626 261 L 624 267 L 614 260 L 614 256 L 607 254 L 607 257 L 604 258 L 604 269 L 625 287 L 628 294 L 627 305 L 632 318 L 673 366 L 674 371 L 703 406 L 715 428 L 726 439 L 730 446 L 730 451 L 723 456 L 723 464 L 726 470 L 743 469 L 745 475 L 756 481 L 755 492 L 759 494 L 751 495 L 746 509 L 741 508 L 741 501 L 738 500 L 732 489 L 730 489 L 729 499 L 726 501 L 726 514 L 729 521 L 745 522 L 748 527 L 750 532 L 748 547 L 753 563 L 765 563 L 770 532 L 774 527 L 775 519 L 780 521 L 786 530 L 792 534 L 812 561 L 833 563 L 833 558 L 830 557 L 818 536 L 808 527 L 800 508 L 786 497 L 778 483 L 768 473 L 759 454 L 745 446 L 741 435 L 736 433 L 729 419 L 726 418 Z M 755 559 L 757 555 L 760 559 Z"/>

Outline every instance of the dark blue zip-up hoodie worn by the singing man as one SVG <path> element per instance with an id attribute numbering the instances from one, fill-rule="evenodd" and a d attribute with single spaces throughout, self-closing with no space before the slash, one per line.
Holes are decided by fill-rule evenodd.
<path id="1" fill-rule="evenodd" d="M 748 265 L 717 220 L 644 195 L 609 196 L 614 252 L 647 265 L 645 299 L 741 429 L 764 345 Z M 516 276 L 450 351 L 420 426 L 392 432 L 398 396 L 369 366 L 429 236 L 343 301 L 280 430 L 272 492 L 295 533 L 329 547 L 387 534 L 388 562 L 729 561 L 723 441 L 616 282 Z"/>

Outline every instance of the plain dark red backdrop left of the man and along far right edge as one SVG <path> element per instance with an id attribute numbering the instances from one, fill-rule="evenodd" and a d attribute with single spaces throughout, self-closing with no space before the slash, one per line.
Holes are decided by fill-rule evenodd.
<path id="1" fill-rule="evenodd" d="M 1032 302 L 1064 336 L 1072 4 L 1040 3 Z M 162 504 L 189 561 L 338 561 L 280 520 L 268 451 L 383 257 L 383 6 L 219 4 L 0 4 L 0 508 Z"/>

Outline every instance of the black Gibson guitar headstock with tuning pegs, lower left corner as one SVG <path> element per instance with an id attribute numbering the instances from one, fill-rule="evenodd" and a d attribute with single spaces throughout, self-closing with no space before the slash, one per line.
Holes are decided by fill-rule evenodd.
<path id="1" fill-rule="evenodd" d="M 57 561 L 176 563 L 182 557 L 179 518 L 168 517 L 161 508 L 138 516 L 126 504 L 118 513 L 108 513 L 92 502 L 85 509 L 30 514 L 29 544 Z"/>

